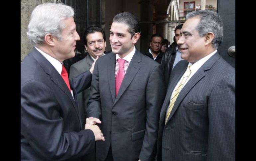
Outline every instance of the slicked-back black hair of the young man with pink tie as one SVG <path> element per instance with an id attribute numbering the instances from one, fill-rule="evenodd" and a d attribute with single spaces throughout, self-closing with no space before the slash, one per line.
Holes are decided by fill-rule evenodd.
<path id="1" fill-rule="evenodd" d="M 128 32 L 133 37 L 136 33 L 140 33 L 140 23 L 138 17 L 130 12 L 122 12 L 113 18 L 113 22 L 124 23 L 129 26 Z"/>

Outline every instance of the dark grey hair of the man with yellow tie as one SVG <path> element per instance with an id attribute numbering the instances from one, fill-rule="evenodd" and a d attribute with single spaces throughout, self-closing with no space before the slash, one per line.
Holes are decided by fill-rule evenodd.
<path id="1" fill-rule="evenodd" d="M 186 19 L 198 16 L 200 22 L 196 27 L 199 33 L 199 37 L 207 35 L 212 32 L 214 39 L 212 40 L 212 46 L 217 49 L 223 41 L 223 22 L 219 14 L 210 10 L 198 10 L 187 14 Z"/>

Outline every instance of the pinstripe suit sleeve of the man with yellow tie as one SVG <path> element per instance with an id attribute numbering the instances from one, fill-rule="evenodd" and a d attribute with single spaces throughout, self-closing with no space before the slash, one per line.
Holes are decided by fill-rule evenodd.
<path id="1" fill-rule="evenodd" d="M 235 74 L 223 76 L 208 102 L 207 160 L 235 160 Z"/>

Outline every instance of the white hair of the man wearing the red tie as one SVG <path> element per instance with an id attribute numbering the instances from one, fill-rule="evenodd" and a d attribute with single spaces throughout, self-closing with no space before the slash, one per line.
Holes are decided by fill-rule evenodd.
<path id="1" fill-rule="evenodd" d="M 45 35 L 52 34 L 62 40 L 61 33 L 66 27 L 63 20 L 74 16 L 70 6 L 58 3 L 43 3 L 32 12 L 28 25 L 28 38 L 34 45 L 45 42 Z"/>

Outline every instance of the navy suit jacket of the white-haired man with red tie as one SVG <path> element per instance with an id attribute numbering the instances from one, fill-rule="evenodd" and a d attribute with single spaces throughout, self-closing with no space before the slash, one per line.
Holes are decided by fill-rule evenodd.
<path id="1" fill-rule="evenodd" d="M 70 82 L 74 99 L 54 66 L 35 48 L 21 63 L 21 160 L 79 160 L 95 148 L 81 126 L 77 92 L 90 85 L 85 72 Z M 75 100 L 75 101 L 74 101 Z"/>

